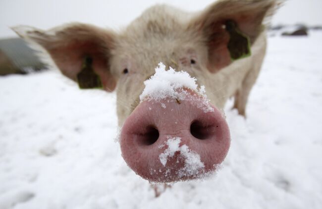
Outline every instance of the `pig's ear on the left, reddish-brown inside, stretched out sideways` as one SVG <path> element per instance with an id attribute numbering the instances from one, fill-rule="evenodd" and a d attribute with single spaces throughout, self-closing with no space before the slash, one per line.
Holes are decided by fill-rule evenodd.
<path id="1" fill-rule="evenodd" d="M 100 85 L 107 91 L 115 88 L 116 81 L 110 73 L 108 62 L 115 39 L 114 33 L 81 23 L 68 24 L 49 31 L 28 26 L 12 29 L 20 37 L 31 42 L 31 46 L 36 50 L 45 49 L 66 77 L 77 81 L 80 71 L 84 68 L 84 62 L 90 59 L 90 69 L 100 80 Z"/>

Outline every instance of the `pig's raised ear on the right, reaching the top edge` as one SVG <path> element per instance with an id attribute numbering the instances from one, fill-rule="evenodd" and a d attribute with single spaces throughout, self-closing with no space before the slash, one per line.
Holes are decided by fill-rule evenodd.
<path id="1" fill-rule="evenodd" d="M 192 20 L 208 47 L 208 69 L 215 73 L 233 60 L 250 55 L 250 46 L 263 31 L 277 0 L 221 0 Z"/>

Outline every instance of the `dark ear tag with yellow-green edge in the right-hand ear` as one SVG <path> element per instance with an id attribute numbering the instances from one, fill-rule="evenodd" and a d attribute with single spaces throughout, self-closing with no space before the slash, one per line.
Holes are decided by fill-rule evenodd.
<path id="1" fill-rule="evenodd" d="M 227 20 L 225 29 L 230 35 L 227 48 L 232 61 L 245 58 L 251 55 L 250 40 L 246 34 L 239 31 L 235 21 Z"/>

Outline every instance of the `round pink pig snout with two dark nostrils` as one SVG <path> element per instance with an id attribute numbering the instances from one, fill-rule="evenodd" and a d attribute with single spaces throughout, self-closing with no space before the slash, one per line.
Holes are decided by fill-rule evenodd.
<path id="1" fill-rule="evenodd" d="M 151 182 L 175 182 L 212 173 L 230 145 L 228 125 L 211 106 L 205 111 L 192 99 L 141 102 L 120 134 L 122 157 Z"/>

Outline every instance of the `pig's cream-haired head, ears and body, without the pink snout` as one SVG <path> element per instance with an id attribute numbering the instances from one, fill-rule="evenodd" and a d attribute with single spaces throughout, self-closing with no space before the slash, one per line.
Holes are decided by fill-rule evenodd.
<path id="1" fill-rule="evenodd" d="M 234 108 L 245 116 L 248 95 L 266 51 L 263 21 L 273 13 L 276 1 L 220 0 L 194 14 L 156 5 L 119 33 L 80 23 L 49 31 L 25 26 L 13 30 L 35 43 L 42 57 L 49 54 L 52 64 L 74 81 L 84 57 L 91 56 L 104 89 L 116 90 L 119 126 L 140 103 L 143 82 L 154 74 L 159 62 L 197 78 L 217 109 L 234 96 Z M 251 56 L 230 59 L 229 33 L 224 28 L 227 20 L 236 22 L 249 37 Z"/>

